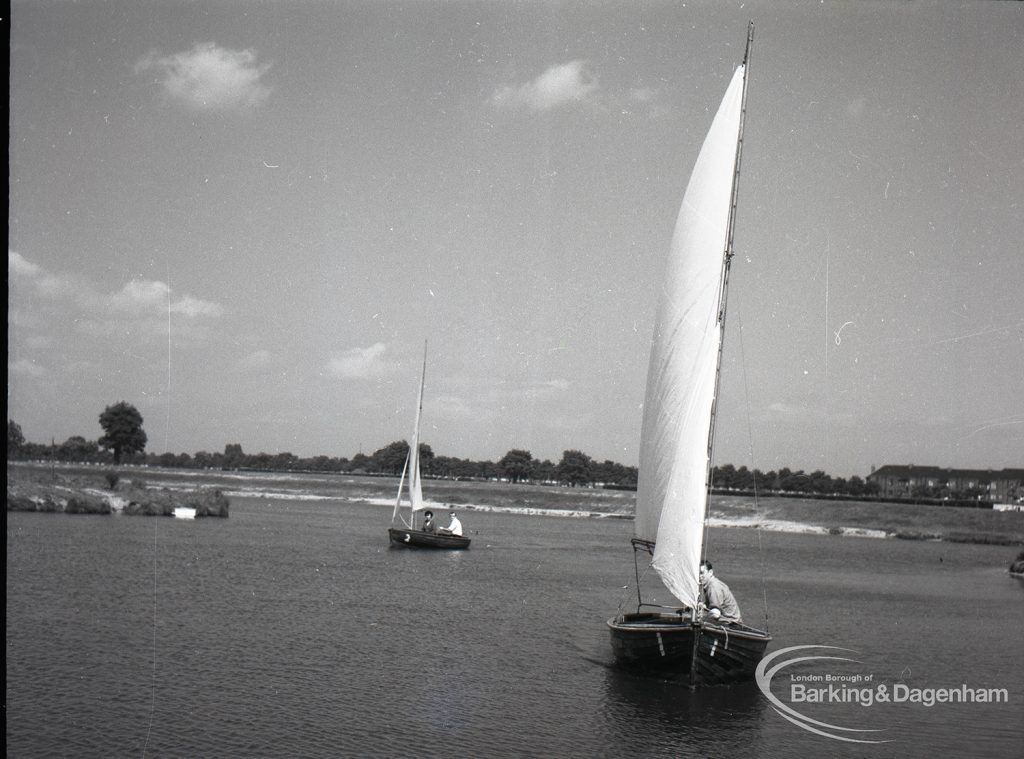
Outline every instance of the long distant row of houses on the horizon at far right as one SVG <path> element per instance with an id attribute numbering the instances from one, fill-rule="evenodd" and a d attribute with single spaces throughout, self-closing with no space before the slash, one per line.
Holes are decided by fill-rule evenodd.
<path id="1" fill-rule="evenodd" d="M 973 496 L 992 503 L 1024 501 L 1024 469 L 943 469 L 938 466 L 886 464 L 867 481 L 887 498 Z"/>

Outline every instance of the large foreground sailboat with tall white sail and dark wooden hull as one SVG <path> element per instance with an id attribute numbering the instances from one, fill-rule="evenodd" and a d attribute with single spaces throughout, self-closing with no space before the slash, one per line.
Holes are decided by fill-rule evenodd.
<path id="1" fill-rule="evenodd" d="M 693 686 L 753 679 L 771 640 L 706 614 L 699 580 L 753 40 L 751 24 L 683 197 L 647 374 L 634 560 L 680 603 L 645 603 L 638 564 L 636 612 L 608 620 L 620 664 Z"/>

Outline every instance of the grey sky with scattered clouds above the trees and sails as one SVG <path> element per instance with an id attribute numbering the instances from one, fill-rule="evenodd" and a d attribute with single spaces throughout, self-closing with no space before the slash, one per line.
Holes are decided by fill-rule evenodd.
<path id="1" fill-rule="evenodd" d="M 716 463 L 1024 466 L 1024 4 L 14 0 L 8 419 L 636 465 L 756 26 Z"/>

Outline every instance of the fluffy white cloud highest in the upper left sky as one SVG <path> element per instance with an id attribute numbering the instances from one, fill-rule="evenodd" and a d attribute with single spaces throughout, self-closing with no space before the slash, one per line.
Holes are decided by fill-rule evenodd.
<path id="1" fill-rule="evenodd" d="M 260 80 L 269 65 L 257 65 L 252 50 L 229 50 L 212 42 L 191 50 L 160 56 L 151 52 L 135 64 L 135 73 L 154 72 L 172 99 L 198 111 L 255 108 L 270 94 Z"/>

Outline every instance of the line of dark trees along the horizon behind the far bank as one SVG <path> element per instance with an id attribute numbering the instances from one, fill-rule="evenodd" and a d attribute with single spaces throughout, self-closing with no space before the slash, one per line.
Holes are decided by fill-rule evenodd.
<path id="1" fill-rule="evenodd" d="M 99 415 L 103 434 L 89 440 L 75 435 L 63 442 L 29 442 L 20 426 L 7 420 L 7 456 L 17 460 L 61 461 L 69 463 L 131 464 L 183 469 L 227 469 L 251 471 L 306 471 L 339 474 L 399 475 L 406 466 L 409 444 L 396 440 L 372 454 L 357 453 L 351 458 L 313 456 L 301 458 L 285 452 L 248 454 L 237 442 L 222 452 L 200 451 L 195 454 L 147 453 L 142 415 L 131 404 L 108 406 Z M 512 449 L 498 461 L 472 461 L 435 455 L 427 444 L 420 444 L 420 468 L 423 476 L 447 479 L 502 479 L 509 482 L 545 482 L 569 487 L 606 487 L 634 489 L 637 467 L 613 461 L 597 461 L 579 450 L 567 450 L 555 463 L 534 458 L 529 451 Z M 878 487 L 860 477 L 849 480 L 831 477 L 823 471 L 779 469 L 762 472 L 738 469 L 731 464 L 716 466 L 712 487 L 717 491 L 797 493 L 803 495 L 847 495 L 870 497 Z"/>

